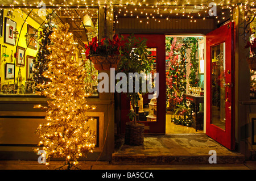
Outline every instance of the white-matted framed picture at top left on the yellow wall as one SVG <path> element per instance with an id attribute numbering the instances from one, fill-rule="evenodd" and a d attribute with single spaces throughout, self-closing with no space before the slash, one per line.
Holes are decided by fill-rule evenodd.
<path id="1" fill-rule="evenodd" d="M 16 28 L 16 22 L 9 18 L 5 18 L 5 43 L 15 45 L 13 31 Z"/>

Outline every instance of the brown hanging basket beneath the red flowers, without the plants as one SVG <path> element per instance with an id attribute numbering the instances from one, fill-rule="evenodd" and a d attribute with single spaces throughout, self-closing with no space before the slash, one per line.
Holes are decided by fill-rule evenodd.
<path id="1" fill-rule="evenodd" d="M 94 64 L 94 68 L 97 70 L 110 70 L 110 68 L 117 69 L 118 62 L 120 61 L 119 55 L 113 56 L 101 56 L 101 55 L 92 55 L 90 60 Z"/>

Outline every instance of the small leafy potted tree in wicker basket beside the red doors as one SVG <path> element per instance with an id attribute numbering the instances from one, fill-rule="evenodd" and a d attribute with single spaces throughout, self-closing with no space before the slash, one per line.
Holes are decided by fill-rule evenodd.
<path id="1" fill-rule="evenodd" d="M 146 39 L 137 38 L 133 35 L 128 36 L 123 40 L 121 48 L 121 60 L 119 61 L 117 71 L 125 73 L 129 78 L 129 73 L 148 73 L 152 70 L 153 58 L 150 57 L 150 52 L 147 49 Z M 142 85 L 142 78 L 139 78 L 140 86 Z M 138 100 L 139 94 L 146 94 L 142 92 L 140 87 L 139 92 L 135 91 L 135 82 L 133 82 L 133 91 L 126 92 L 127 98 L 130 100 L 134 111 L 128 114 L 129 122 L 126 123 L 125 143 L 129 145 L 141 145 L 144 141 L 144 124 L 137 123 L 138 117 Z M 129 81 L 127 81 L 127 89 L 129 88 Z M 139 94 L 138 94 L 139 93 Z M 137 111 L 136 111 L 137 110 Z M 137 116 L 136 116 L 137 115 Z"/>

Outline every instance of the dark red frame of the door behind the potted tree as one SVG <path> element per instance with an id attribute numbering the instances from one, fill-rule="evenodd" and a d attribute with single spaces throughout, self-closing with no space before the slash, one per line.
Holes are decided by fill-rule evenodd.
<path id="1" fill-rule="evenodd" d="M 123 34 L 123 37 L 130 35 Z M 156 99 L 156 120 L 142 121 L 145 133 L 166 133 L 166 36 L 159 34 L 134 34 L 135 37 L 147 39 L 148 48 L 156 48 L 156 72 L 159 73 L 159 95 Z M 125 132 L 125 124 L 129 121 L 127 114 L 130 103 L 125 94 L 121 94 L 121 132 Z M 147 129 L 149 127 L 149 129 Z"/>

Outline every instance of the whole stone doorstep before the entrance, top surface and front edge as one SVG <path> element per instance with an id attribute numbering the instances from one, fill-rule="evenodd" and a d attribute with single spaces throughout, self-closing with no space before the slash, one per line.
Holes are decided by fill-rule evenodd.
<path id="1" fill-rule="evenodd" d="M 170 146 L 172 145 L 172 146 Z M 217 163 L 243 164 L 245 156 L 230 151 L 206 134 L 145 137 L 141 146 L 121 145 L 112 154 L 113 165 L 210 164 L 209 150 L 217 151 Z"/>

